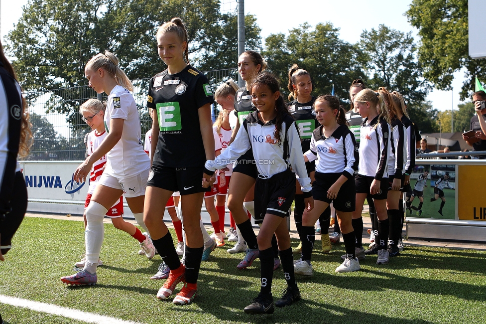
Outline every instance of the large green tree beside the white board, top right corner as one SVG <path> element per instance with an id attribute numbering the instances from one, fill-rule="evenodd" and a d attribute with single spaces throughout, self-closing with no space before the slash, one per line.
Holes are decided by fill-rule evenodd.
<path id="1" fill-rule="evenodd" d="M 470 97 L 475 75 L 486 79 L 486 59 L 469 57 L 468 0 L 413 0 L 405 14 L 422 38 L 418 54 L 424 77 L 440 90 L 451 90 L 454 72 L 465 68 L 461 100 Z"/>

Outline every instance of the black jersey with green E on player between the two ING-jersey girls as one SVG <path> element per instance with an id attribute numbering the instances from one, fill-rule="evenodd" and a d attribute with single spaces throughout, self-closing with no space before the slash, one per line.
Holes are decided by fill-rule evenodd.
<path id="1" fill-rule="evenodd" d="M 312 109 L 312 105 L 315 101 L 316 98 L 312 96 L 311 101 L 306 102 L 305 104 L 299 103 L 297 99 L 287 104 L 289 113 L 292 114 L 295 124 L 299 128 L 302 152 L 309 150 L 312 132 L 319 127 L 319 122 L 316 119 L 316 112 Z"/>

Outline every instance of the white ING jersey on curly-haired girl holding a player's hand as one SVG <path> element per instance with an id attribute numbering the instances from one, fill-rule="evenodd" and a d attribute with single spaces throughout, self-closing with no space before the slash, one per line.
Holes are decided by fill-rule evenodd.
<path id="1" fill-rule="evenodd" d="M 273 134 L 275 127 L 274 120 L 263 124 L 256 111 L 250 113 L 243 121 L 235 141 L 214 161 L 207 161 L 206 168 L 208 170 L 224 168 L 251 148 L 259 173 L 258 177 L 270 178 L 291 166 L 302 191 L 311 191 L 311 180 L 307 177 L 300 137 L 294 119 L 285 116 L 280 131 L 280 144 Z"/>

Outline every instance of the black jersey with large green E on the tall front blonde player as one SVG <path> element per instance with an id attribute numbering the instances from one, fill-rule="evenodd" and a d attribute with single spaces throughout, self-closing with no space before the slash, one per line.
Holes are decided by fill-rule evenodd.
<path id="1" fill-rule="evenodd" d="M 198 109 L 213 102 L 208 79 L 190 65 L 150 80 L 147 107 L 156 110 L 160 127 L 153 165 L 192 167 L 206 162 Z"/>

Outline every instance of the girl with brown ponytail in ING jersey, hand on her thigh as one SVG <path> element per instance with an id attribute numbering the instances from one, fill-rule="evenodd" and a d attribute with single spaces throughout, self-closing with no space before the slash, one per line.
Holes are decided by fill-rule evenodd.
<path id="1" fill-rule="evenodd" d="M 305 161 L 316 160 L 316 180 L 312 184 L 314 209 L 302 217 L 302 258 L 294 264 L 295 273 L 312 276 L 311 255 L 314 245 L 314 223 L 331 202 L 338 215 L 346 246 L 346 259 L 336 272 L 360 270 L 355 257 L 356 236 L 351 224 L 356 207 L 355 172 L 358 170 L 358 146 L 348 129 L 345 111 L 331 95 L 319 96 L 314 110 L 320 126 L 314 130 Z"/>

